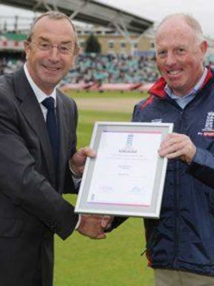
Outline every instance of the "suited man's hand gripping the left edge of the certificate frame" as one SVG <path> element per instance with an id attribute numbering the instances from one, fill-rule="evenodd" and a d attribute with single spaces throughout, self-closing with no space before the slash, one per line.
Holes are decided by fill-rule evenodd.
<path id="1" fill-rule="evenodd" d="M 79 149 L 73 155 L 73 157 L 70 158 L 70 161 L 69 161 L 70 168 L 75 174 L 77 175 L 83 174 L 87 156 L 94 158 L 96 156 L 96 153 L 91 148 L 84 147 L 84 148 Z"/>

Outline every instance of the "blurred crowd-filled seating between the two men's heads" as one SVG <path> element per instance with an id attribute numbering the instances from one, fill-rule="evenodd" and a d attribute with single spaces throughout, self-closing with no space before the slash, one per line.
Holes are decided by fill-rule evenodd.
<path id="1" fill-rule="evenodd" d="M 77 83 L 144 83 L 158 77 L 155 58 L 81 54 L 61 85 Z"/>

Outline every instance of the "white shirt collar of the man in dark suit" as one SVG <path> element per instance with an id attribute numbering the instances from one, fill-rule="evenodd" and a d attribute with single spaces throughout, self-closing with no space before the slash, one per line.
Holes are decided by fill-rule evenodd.
<path id="1" fill-rule="evenodd" d="M 47 95 L 33 81 L 32 77 L 29 74 L 28 68 L 26 67 L 26 63 L 24 64 L 24 73 L 25 73 L 25 76 L 28 79 L 34 93 L 35 93 L 35 96 L 36 96 L 39 104 L 41 104 L 42 101 L 45 100 L 48 96 L 48 97 L 52 97 L 55 100 L 54 103 L 55 103 L 55 108 L 56 108 L 57 107 L 57 90 L 56 90 L 56 87 L 53 89 L 53 91 L 49 95 Z"/>

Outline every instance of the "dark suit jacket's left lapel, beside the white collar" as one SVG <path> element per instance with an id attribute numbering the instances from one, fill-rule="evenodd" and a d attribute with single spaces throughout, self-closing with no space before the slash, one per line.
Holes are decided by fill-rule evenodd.
<path id="1" fill-rule="evenodd" d="M 47 170 L 50 175 L 50 180 L 52 181 L 53 178 L 55 178 L 55 172 L 48 132 L 40 105 L 28 80 L 26 79 L 23 67 L 15 73 L 15 90 L 16 97 L 21 102 L 20 110 L 40 140 Z"/>

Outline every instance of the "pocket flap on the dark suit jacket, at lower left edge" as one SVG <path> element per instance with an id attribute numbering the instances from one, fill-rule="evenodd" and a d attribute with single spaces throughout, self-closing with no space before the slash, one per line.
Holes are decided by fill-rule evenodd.
<path id="1" fill-rule="evenodd" d="M 21 219 L 0 218 L 0 237 L 20 236 L 23 228 Z"/>

